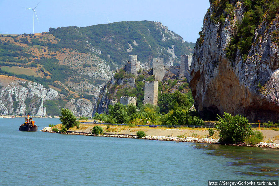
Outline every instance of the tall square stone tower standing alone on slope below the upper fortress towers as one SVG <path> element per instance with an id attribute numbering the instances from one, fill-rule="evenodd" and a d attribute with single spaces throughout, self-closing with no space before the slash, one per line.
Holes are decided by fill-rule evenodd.
<path id="1" fill-rule="evenodd" d="M 157 106 L 158 103 L 158 81 L 144 83 L 144 100 L 143 103 L 149 103 Z"/>

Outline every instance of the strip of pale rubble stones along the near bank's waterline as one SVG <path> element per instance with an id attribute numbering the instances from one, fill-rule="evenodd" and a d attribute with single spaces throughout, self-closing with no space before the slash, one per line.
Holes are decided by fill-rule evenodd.
<path id="1" fill-rule="evenodd" d="M 43 132 L 50 132 L 52 133 L 51 127 L 45 127 L 41 131 Z M 76 131 L 69 131 L 63 134 L 71 134 L 71 135 L 86 135 L 86 136 L 96 136 L 90 132 L 76 132 Z M 136 135 L 129 135 L 129 134 L 101 134 L 97 135 L 101 137 L 113 137 L 113 138 L 138 138 Z M 195 138 L 195 137 L 173 137 L 173 136 L 145 136 L 141 139 L 148 139 L 148 140 L 160 140 L 160 141 L 176 141 L 176 142 L 193 142 L 193 143 L 213 143 L 213 144 L 220 144 L 218 143 L 218 139 L 214 138 Z M 250 147 L 266 147 L 266 148 L 278 148 L 279 144 L 276 143 L 265 143 L 260 142 L 255 145 L 246 145 L 246 144 L 239 144 L 240 146 L 250 146 Z"/>

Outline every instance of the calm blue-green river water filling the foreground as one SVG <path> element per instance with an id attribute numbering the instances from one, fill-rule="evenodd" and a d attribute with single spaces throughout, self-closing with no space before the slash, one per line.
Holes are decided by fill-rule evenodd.
<path id="1" fill-rule="evenodd" d="M 39 130 L 59 119 L 34 120 L 38 132 L 18 131 L 24 118 L 0 119 L 0 185 L 188 186 L 279 179 L 279 149 L 51 134 Z"/>

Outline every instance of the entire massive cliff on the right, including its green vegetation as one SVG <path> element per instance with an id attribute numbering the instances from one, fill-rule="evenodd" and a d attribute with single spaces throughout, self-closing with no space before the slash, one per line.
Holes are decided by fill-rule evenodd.
<path id="1" fill-rule="evenodd" d="M 278 121 L 278 1 L 265 3 L 210 1 L 190 70 L 195 108 L 204 118 L 228 112 L 250 122 Z"/>

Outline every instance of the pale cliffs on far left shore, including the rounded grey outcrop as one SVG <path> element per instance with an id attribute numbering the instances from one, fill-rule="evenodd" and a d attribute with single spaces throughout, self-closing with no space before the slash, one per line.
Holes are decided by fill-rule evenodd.
<path id="1" fill-rule="evenodd" d="M 52 88 L 45 88 L 42 84 L 26 81 L 11 76 L 0 75 L 0 115 L 26 115 L 27 113 L 37 116 L 46 116 L 50 104 L 62 102 L 65 108 L 69 108 L 77 116 L 91 116 L 93 104 L 84 98 L 72 98 L 70 101 L 63 100 L 63 94 L 59 94 Z M 64 104 L 63 104 L 64 102 Z M 54 114 L 53 114 L 54 115 Z"/>

